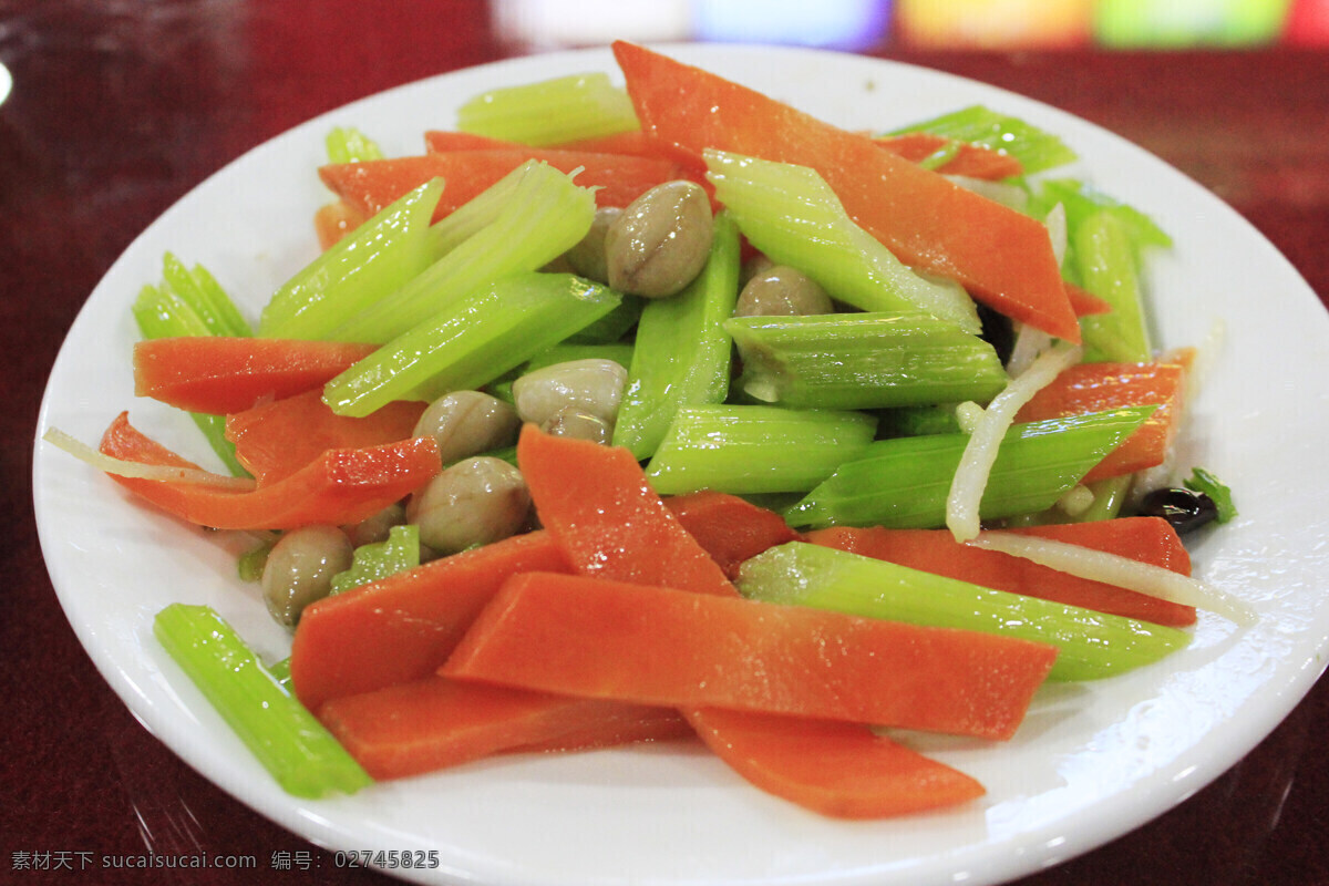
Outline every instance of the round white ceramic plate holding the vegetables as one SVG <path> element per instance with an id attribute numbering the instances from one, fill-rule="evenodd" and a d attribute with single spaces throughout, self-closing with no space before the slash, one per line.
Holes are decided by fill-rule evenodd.
<path id="1" fill-rule="evenodd" d="M 182 679 L 152 636 L 174 600 L 207 603 L 264 656 L 288 639 L 234 550 L 140 507 L 40 441 L 36 511 L 52 580 L 97 667 L 133 712 L 242 802 L 322 846 L 435 850 L 425 882 L 989 883 L 1053 865 L 1136 828 L 1244 756 L 1310 688 L 1329 634 L 1329 317 L 1249 224 L 1144 151 L 1045 105 L 946 74 L 852 56 L 676 46 L 679 57 L 848 128 L 885 129 L 973 102 L 1062 134 L 1074 174 L 1150 213 L 1176 247 L 1150 262 L 1159 340 L 1227 344 L 1183 440 L 1183 460 L 1237 490 L 1241 517 L 1193 547 L 1196 574 L 1259 611 L 1236 631 L 1204 618 L 1167 662 L 1096 684 L 1047 688 L 1009 744 L 920 740 L 978 777 L 958 812 L 847 824 L 750 788 L 690 745 L 513 757 L 302 802 L 283 794 Z M 210 268 L 253 313 L 315 255 L 314 169 L 323 135 L 355 125 L 389 154 L 419 153 L 488 88 L 589 69 L 607 52 L 537 56 L 395 89 L 314 120 L 242 157 L 149 227 L 92 294 L 51 375 L 39 433 L 96 441 L 116 412 L 199 453 L 187 421 L 136 401 L 129 304 L 162 252 Z"/>

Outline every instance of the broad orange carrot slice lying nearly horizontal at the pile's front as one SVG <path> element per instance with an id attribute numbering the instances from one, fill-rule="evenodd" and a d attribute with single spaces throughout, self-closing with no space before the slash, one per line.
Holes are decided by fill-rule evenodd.
<path id="1" fill-rule="evenodd" d="M 524 573 L 444 676 L 582 697 L 1009 739 L 1057 648 L 801 606 Z"/>

